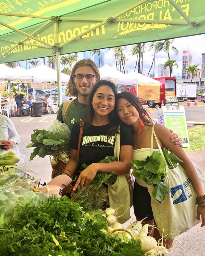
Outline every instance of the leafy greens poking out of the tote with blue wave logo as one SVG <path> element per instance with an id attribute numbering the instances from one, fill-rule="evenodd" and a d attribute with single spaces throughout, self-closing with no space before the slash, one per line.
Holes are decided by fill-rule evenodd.
<path id="1" fill-rule="evenodd" d="M 167 148 L 162 150 L 169 169 L 176 168 L 178 162 L 182 162 L 174 153 L 169 153 Z M 164 184 L 167 177 L 166 162 L 160 153 L 153 151 L 151 156 L 147 156 L 145 160 L 132 160 L 133 176 L 142 179 L 148 185 L 153 185 L 152 195 L 161 203 L 168 193 L 167 185 Z"/>

